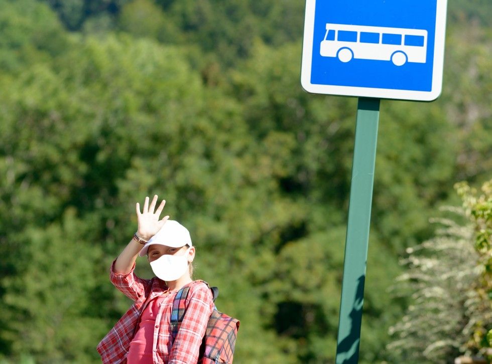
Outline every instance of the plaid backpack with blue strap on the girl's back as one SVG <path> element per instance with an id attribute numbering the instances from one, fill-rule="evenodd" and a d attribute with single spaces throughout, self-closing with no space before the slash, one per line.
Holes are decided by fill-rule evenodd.
<path id="1" fill-rule="evenodd" d="M 210 287 L 207 282 L 202 281 L 212 291 L 213 301 L 218 296 L 217 287 Z M 171 330 L 173 337 L 178 334 L 179 324 L 183 321 L 185 314 L 186 297 L 190 287 L 181 288 L 173 301 L 171 312 Z M 207 329 L 203 336 L 198 354 L 198 364 L 231 364 L 234 355 L 239 320 L 217 310 L 214 306 L 212 314 L 208 319 Z"/>

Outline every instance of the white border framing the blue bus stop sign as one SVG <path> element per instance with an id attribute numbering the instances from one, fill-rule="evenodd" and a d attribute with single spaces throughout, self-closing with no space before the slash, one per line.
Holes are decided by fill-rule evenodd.
<path id="1" fill-rule="evenodd" d="M 446 35 L 447 0 L 437 0 L 436 30 L 434 37 L 434 67 L 431 91 L 395 90 L 355 86 L 319 85 L 311 83 L 311 65 L 314 38 L 314 12 L 316 0 L 306 0 L 304 40 L 302 46 L 301 85 L 304 90 L 316 94 L 373 97 L 413 101 L 434 101 L 442 91 L 444 43 Z M 440 41 L 436 41 L 440 40 Z"/>

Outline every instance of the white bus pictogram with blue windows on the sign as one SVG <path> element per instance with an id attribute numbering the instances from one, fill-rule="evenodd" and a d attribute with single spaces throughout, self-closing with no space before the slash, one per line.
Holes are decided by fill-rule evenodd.
<path id="1" fill-rule="evenodd" d="M 344 63 L 352 58 L 392 61 L 396 66 L 425 63 L 427 31 L 327 23 L 319 53 Z"/>

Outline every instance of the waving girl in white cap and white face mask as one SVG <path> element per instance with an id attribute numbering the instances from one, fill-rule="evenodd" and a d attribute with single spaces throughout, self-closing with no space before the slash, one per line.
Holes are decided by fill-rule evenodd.
<path id="1" fill-rule="evenodd" d="M 97 345 L 106 363 L 196 363 L 199 347 L 214 304 L 212 293 L 202 281 L 193 281 L 195 247 L 188 230 L 169 216 L 159 220 L 163 200 L 154 212 L 157 195 L 150 206 L 145 198 L 143 212 L 137 203 L 138 230 L 112 263 L 110 280 L 134 304 Z M 137 255 L 147 255 L 156 277 L 135 275 Z M 183 321 L 175 337 L 171 311 L 176 293 L 189 286 Z"/>

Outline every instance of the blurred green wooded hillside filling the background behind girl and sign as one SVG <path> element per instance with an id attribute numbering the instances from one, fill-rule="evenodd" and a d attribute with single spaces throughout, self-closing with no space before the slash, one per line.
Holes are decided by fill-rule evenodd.
<path id="1" fill-rule="evenodd" d="M 471 3 L 449 4 L 441 98 L 382 102 L 361 363 L 395 359 L 398 256 L 457 181 L 490 178 L 491 13 Z M 302 91 L 304 3 L 0 9 L 0 362 L 98 361 L 130 305 L 109 264 L 156 193 L 241 320 L 234 362 L 332 363 L 356 100 Z"/>

